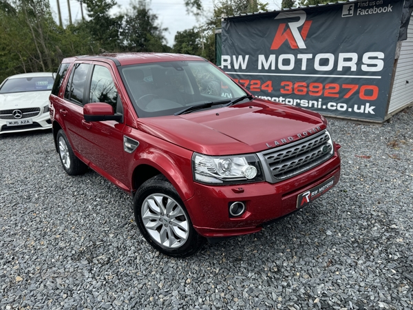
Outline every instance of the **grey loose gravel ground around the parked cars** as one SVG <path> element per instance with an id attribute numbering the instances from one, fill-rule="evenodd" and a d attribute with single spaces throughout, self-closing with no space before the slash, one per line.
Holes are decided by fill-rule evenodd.
<path id="1" fill-rule="evenodd" d="M 67 176 L 50 132 L 0 137 L 0 309 L 413 309 L 413 107 L 330 120 L 337 187 L 260 233 L 172 259 L 131 197 Z"/>

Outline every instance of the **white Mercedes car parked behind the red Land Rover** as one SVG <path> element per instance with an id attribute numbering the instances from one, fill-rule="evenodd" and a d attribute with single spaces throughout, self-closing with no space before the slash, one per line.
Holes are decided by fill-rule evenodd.
<path id="1" fill-rule="evenodd" d="M 52 128 L 49 96 L 54 83 L 50 72 L 9 76 L 0 85 L 0 134 Z"/>

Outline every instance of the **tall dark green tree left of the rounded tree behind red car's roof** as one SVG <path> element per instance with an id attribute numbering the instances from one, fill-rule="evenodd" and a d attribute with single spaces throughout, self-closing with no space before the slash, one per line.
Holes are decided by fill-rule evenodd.
<path id="1" fill-rule="evenodd" d="M 109 15 L 109 10 L 116 6 L 116 0 L 83 0 L 87 6 L 86 21 L 92 38 L 101 50 L 117 52 L 120 50 L 120 31 L 123 23 L 123 15 L 115 17 Z"/>

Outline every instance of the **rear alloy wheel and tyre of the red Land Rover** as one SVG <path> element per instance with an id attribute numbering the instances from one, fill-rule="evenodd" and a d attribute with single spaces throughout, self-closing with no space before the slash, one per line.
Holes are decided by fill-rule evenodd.
<path id="1" fill-rule="evenodd" d="M 70 176 L 84 174 L 87 170 L 87 165 L 83 163 L 73 152 L 69 141 L 63 130 L 59 130 L 56 134 L 56 143 L 59 149 L 59 157 L 65 172 Z"/>

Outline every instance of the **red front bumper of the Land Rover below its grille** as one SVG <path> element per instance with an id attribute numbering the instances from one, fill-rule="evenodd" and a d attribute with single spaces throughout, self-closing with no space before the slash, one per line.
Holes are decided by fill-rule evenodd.
<path id="1" fill-rule="evenodd" d="M 251 234 L 262 225 L 297 210 L 297 197 L 309 189 L 334 178 L 340 178 L 340 158 L 336 152 L 325 163 L 279 183 L 252 183 L 243 185 L 208 186 L 195 183 L 195 195 L 184 203 L 193 227 L 207 238 Z M 331 188 L 331 187 L 330 187 Z M 233 218 L 229 205 L 242 201 L 246 211 Z"/>

